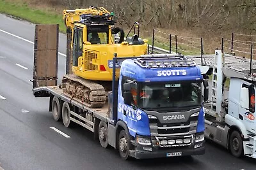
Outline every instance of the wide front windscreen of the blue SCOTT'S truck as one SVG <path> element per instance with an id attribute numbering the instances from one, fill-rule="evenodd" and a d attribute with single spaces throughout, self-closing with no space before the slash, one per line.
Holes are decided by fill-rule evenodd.
<path id="1" fill-rule="evenodd" d="M 182 83 L 141 83 L 139 107 L 141 109 L 159 110 L 173 108 L 200 106 L 202 93 L 200 82 Z"/>

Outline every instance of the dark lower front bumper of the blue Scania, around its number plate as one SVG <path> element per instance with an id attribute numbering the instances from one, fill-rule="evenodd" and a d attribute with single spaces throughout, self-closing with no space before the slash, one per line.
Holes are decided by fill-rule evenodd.
<path id="1" fill-rule="evenodd" d="M 130 156 L 134 157 L 136 159 L 152 159 L 152 158 L 162 158 L 162 157 L 168 157 L 167 153 L 173 153 L 173 152 L 181 152 L 182 156 L 188 156 L 188 155 L 203 155 L 205 153 L 205 145 L 203 142 L 203 145 L 198 148 L 172 148 L 166 150 L 154 150 L 152 152 L 147 152 L 145 150 L 133 150 L 130 152 Z"/>

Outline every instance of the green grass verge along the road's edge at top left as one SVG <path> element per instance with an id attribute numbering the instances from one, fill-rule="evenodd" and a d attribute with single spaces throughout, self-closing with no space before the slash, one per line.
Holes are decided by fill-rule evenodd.
<path id="1" fill-rule="evenodd" d="M 12 15 L 13 17 L 28 20 L 34 24 L 59 24 L 60 31 L 65 32 L 66 27 L 61 15 L 41 10 L 32 10 L 26 3 L 9 3 L 0 0 L 0 13 Z"/>

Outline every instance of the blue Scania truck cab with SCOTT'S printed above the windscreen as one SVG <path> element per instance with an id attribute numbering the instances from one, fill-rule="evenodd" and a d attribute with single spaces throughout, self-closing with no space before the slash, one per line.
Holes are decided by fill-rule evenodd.
<path id="1" fill-rule="evenodd" d="M 116 127 L 126 129 L 117 141 L 124 157 L 129 152 L 137 158 L 205 152 L 200 69 L 184 56 L 164 56 L 141 55 L 121 64 Z"/>

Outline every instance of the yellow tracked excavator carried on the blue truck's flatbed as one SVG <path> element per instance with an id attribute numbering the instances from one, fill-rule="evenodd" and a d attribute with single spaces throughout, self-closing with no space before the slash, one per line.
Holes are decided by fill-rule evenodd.
<path id="1" fill-rule="evenodd" d="M 69 67 L 63 83 L 68 94 L 81 99 L 86 106 L 102 108 L 111 89 L 114 55 L 135 57 L 146 54 L 148 40 L 138 38 L 137 34 L 128 37 L 131 30 L 125 38 L 123 29 L 115 27 L 114 13 L 103 7 L 63 10 L 63 20 L 67 26 Z M 118 32 L 120 39 L 115 42 Z M 116 75 L 118 73 L 117 69 Z"/>

